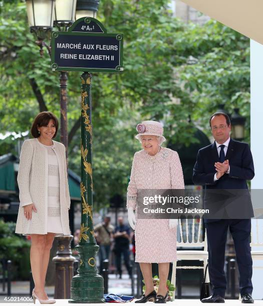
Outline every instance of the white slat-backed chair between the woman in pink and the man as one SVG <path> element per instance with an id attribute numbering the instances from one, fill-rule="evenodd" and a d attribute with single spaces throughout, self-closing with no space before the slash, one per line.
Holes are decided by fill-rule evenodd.
<path id="1" fill-rule="evenodd" d="M 173 262 L 172 268 L 172 278 L 171 283 L 176 285 L 176 268 L 178 269 L 203 269 L 208 261 L 208 251 L 207 251 L 207 241 L 206 234 L 204 234 L 203 239 L 203 228 L 202 219 L 179 219 L 177 226 L 177 247 L 203 247 L 203 250 L 199 249 L 185 249 L 177 250 L 177 260 L 201 260 L 203 261 L 203 266 L 177 266 L 177 262 Z M 206 282 L 209 282 L 208 270 L 206 273 Z M 175 291 L 173 292 L 173 299 L 175 297 Z"/>

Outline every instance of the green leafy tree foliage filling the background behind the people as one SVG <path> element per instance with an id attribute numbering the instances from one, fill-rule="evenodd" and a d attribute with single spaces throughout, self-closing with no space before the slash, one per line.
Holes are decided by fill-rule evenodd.
<path id="1" fill-rule="evenodd" d="M 249 141 L 249 39 L 214 20 L 184 24 L 167 3 L 100 1 L 98 19 L 108 32 L 124 34 L 124 72 L 94 73 L 92 79 L 97 208 L 115 193 L 125 195 L 133 154 L 140 148 L 135 127 L 143 119 L 162 120 L 168 141 L 189 145 L 197 141 L 196 125 L 210 135 L 209 116 L 224 103 L 228 112 L 239 107 L 246 116 Z M 29 130 L 41 109 L 32 79 L 46 107 L 60 117 L 60 73 L 51 71 L 46 51 L 39 56 L 24 2 L 2 6 L 0 29 L 0 131 Z M 80 116 L 80 73 L 69 73 L 68 99 L 70 131 Z M 0 154 L 9 148 L 6 138 Z M 80 129 L 69 144 L 69 166 L 80 174 Z"/>

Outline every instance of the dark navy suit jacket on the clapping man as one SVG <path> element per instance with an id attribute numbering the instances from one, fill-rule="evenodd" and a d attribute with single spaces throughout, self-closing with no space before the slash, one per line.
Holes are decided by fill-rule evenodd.
<path id="1" fill-rule="evenodd" d="M 216 221 L 220 217 L 227 216 L 229 218 L 253 217 L 246 183 L 247 179 L 254 177 L 253 158 L 248 144 L 230 139 L 225 159 L 229 160 L 229 174 L 225 173 L 214 181 L 216 173 L 214 163 L 219 161 L 215 142 L 201 148 L 197 153 L 192 179 L 196 185 L 205 185 L 205 208 L 214 208 L 213 218 L 206 218 L 205 222 Z"/>

